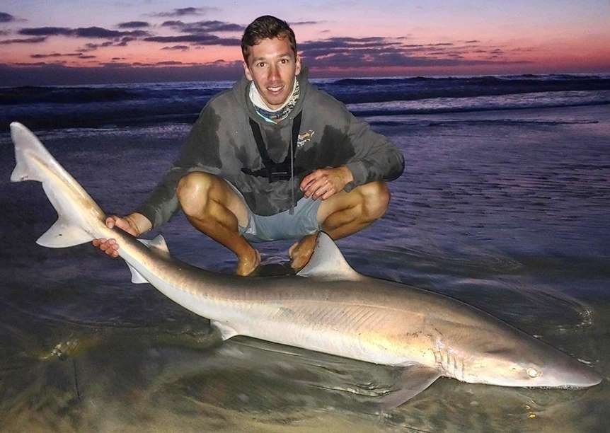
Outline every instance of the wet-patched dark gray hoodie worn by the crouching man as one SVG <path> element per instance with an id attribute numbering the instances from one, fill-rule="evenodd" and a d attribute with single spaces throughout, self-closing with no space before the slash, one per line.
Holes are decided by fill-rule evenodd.
<path id="1" fill-rule="evenodd" d="M 180 157 L 146 201 L 136 210 L 154 227 L 168 221 L 178 209 L 178 181 L 192 171 L 205 171 L 228 180 L 243 194 L 248 207 L 258 215 L 272 215 L 291 208 L 299 200 L 301 179 L 316 168 L 347 166 L 354 181 L 346 191 L 374 180 L 394 180 L 403 173 L 404 159 L 386 137 L 352 115 L 343 103 L 319 91 L 306 74 L 299 75 L 301 96 L 288 117 L 271 124 L 260 117 L 248 96 L 250 81 L 244 76 L 233 88 L 214 96 L 200 113 L 183 146 Z M 260 126 L 267 152 L 273 161 L 288 155 L 292 122 L 302 111 L 294 166 L 304 173 L 290 180 L 270 183 L 265 177 L 241 171 L 263 168 L 249 119 Z"/>

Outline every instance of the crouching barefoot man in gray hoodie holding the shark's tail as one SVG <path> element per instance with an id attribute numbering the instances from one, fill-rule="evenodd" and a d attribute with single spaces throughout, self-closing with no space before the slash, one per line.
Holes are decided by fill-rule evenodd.
<path id="1" fill-rule="evenodd" d="M 241 49 L 243 79 L 209 101 L 148 200 L 106 224 L 139 236 L 180 206 L 192 226 L 236 254 L 238 275 L 260 264 L 251 242 L 289 238 L 300 238 L 289 249 L 299 270 L 319 230 L 343 238 L 383 216 L 384 180 L 401 175 L 403 156 L 309 83 L 284 21 L 257 18 Z M 93 245 L 118 255 L 113 239 Z"/>

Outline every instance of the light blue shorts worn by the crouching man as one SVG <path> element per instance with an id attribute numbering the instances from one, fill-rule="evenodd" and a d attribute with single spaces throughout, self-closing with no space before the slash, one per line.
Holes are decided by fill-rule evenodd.
<path id="1" fill-rule="evenodd" d="M 235 185 L 227 182 L 248 209 L 248 225 L 239 226 L 239 233 L 250 242 L 280 241 L 281 239 L 300 239 L 320 230 L 318 207 L 321 200 L 303 197 L 297 202 L 292 215 L 290 210 L 264 217 L 252 212 L 243 195 Z"/>

